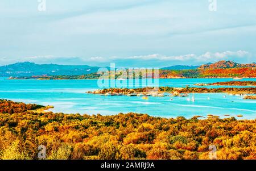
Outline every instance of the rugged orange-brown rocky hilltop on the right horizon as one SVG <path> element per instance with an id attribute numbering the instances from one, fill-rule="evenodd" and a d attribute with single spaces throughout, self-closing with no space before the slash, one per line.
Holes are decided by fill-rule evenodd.
<path id="1" fill-rule="evenodd" d="M 238 64 L 233 61 L 218 61 L 214 64 L 204 64 L 198 69 L 225 69 L 225 68 L 249 68 L 256 67 L 256 64 Z"/>

